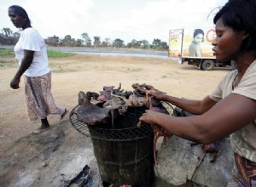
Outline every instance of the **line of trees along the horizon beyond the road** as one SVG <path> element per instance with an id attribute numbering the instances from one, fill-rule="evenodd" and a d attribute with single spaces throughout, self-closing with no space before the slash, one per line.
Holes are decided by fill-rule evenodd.
<path id="1" fill-rule="evenodd" d="M 2 45 L 15 45 L 20 37 L 20 33 L 14 32 L 9 28 L 0 30 L 0 44 Z M 50 47 L 84 47 L 84 48 L 128 48 L 128 49 L 142 49 L 142 50 L 155 50 L 167 51 L 169 46 L 167 42 L 161 41 L 159 38 L 154 38 L 152 42 L 148 40 L 132 39 L 127 42 L 120 38 L 110 39 L 101 37 L 89 37 L 89 34 L 84 32 L 80 38 L 73 38 L 71 35 L 65 37 L 47 37 L 44 38 L 45 43 Z"/>

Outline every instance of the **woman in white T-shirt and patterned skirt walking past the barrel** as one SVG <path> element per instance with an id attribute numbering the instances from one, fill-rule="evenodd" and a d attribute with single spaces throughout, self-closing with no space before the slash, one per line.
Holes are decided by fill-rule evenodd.
<path id="1" fill-rule="evenodd" d="M 9 7 L 9 18 L 17 28 L 21 28 L 19 41 L 15 45 L 15 59 L 19 69 L 10 82 L 10 87 L 20 88 L 20 77 L 25 75 L 26 108 L 29 121 L 41 120 L 41 127 L 33 131 L 38 134 L 49 129 L 49 114 L 67 114 L 67 110 L 57 105 L 50 93 L 51 71 L 43 37 L 32 28 L 26 10 L 20 6 Z"/>

